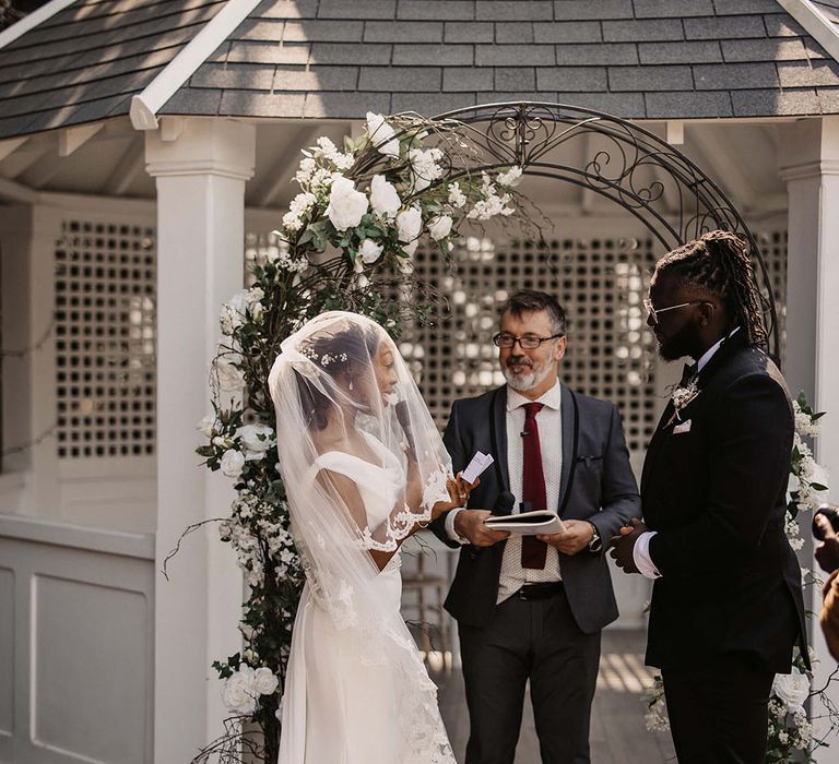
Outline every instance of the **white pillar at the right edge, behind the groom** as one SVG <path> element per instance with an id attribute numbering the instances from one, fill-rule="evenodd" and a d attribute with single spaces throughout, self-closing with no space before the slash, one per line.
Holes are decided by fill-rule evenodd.
<path id="1" fill-rule="evenodd" d="M 781 129 L 781 176 L 789 190 L 787 276 L 787 367 L 793 394 L 803 390 L 813 407 L 827 411 L 816 461 L 831 475 L 830 500 L 839 501 L 839 117 L 804 120 Z M 805 537 L 810 517 L 804 520 Z M 818 570 L 815 561 L 811 568 Z M 816 587 L 812 587 L 816 589 Z M 811 609 L 822 608 L 820 590 Z M 814 684 L 823 687 L 836 668 L 822 629 L 813 619 L 812 641 L 819 664 Z M 830 699 L 839 704 L 839 683 Z M 824 713 L 814 708 L 815 716 Z M 816 761 L 832 761 L 820 749 Z"/>

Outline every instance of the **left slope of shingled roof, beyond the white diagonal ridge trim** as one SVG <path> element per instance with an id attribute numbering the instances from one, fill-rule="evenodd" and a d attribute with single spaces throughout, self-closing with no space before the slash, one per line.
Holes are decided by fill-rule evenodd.
<path id="1" fill-rule="evenodd" d="M 131 96 L 223 7 L 78 0 L 0 49 L 0 139 L 128 114 Z"/>

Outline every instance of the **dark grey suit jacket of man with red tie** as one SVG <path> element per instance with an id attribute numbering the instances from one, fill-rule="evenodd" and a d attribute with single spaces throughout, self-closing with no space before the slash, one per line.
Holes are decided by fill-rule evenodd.
<path id="1" fill-rule="evenodd" d="M 568 492 L 563 517 L 592 522 L 605 547 L 617 529 L 629 517 L 638 516 L 640 511 L 621 417 L 613 404 L 572 393 L 564 385 L 560 411 L 560 506 Z M 493 455 L 495 464 L 481 476 L 481 485 L 469 500 L 472 509 L 493 509 L 498 494 L 510 488 L 507 387 L 457 401 L 451 408 L 444 442 L 451 454 L 456 474 L 469 464 L 476 451 Z M 432 529 L 445 544 L 457 548 L 459 545 L 446 534 L 445 520 L 445 515 L 438 517 Z M 461 549 L 454 581 L 446 599 L 446 609 L 460 623 L 484 626 L 492 620 L 505 545 L 505 541 L 487 548 L 466 545 Z M 559 565 L 568 602 L 583 632 L 593 633 L 617 618 L 603 552 L 593 554 L 583 550 L 572 557 L 560 553 Z"/>

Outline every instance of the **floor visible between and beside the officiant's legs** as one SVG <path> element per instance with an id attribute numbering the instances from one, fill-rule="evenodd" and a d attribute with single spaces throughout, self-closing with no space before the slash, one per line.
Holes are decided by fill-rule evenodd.
<path id="1" fill-rule="evenodd" d="M 645 635 L 639 631 L 605 631 L 591 723 L 592 764 L 675 763 L 669 732 L 648 732 L 641 694 L 651 683 L 643 666 Z M 463 762 L 469 737 L 469 716 L 463 700 L 463 677 L 433 672 L 439 687 L 442 719 L 454 756 Z M 525 702 L 516 764 L 539 764 L 539 742 L 530 699 Z"/>

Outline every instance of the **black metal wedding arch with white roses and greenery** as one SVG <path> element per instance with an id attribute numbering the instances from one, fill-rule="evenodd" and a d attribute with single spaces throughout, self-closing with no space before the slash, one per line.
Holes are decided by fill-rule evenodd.
<path id="1" fill-rule="evenodd" d="M 579 142 L 583 160 L 569 160 L 564 151 Z M 779 349 L 766 264 L 742 216 L 690 159 L 636 124 L 530 102 L 434 119 L 368 114 L 362 135 L 345 138 L 341 147 L 321 138 L 303 154 L 295 175 L 300 193 L 275 231 L 281 246 L 257 259 L 251 286 L 222 306 L 213 410 L 199 428 L 206 438 L 198 449 L 204 464 L 234 480 L 231 516 L 208 522 L 218 522 L 222 540 L 236 551 L 248 597 L 244 649 L 214 664 L 233 716 L 197 762 L 276 761 L 277 689 L 304 574 L 273 457 L 268 373 L 282 341 L 306 320 L 324 310 L 353 310 L 395 337 L 406 320 L 422 324 L 433 310 L 434 285 L 414 275 L 421 240 L 432 256 L 446 260 L 461 225 L 517 215 L 525 230 L 541 236 L 537 222 L 517 213 L 528 204 L 517 189 L 527 174 L 610 200 L 664 250 L 714 228 L 741 235 L 755 260 L 769 349 Z M 675 214 L 665 199 L 677 200 Z M 256 723 L 258 732 L 247 723 Z"/>

